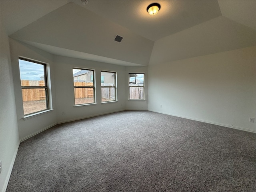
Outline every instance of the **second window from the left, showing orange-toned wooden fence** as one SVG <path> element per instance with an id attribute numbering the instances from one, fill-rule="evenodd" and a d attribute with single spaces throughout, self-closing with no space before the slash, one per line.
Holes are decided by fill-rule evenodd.
<path id="1" fill-rule="evenodd" d="M 73 81 L 75 105 L 95 103 L 94 70 L 73 68 Z"/>

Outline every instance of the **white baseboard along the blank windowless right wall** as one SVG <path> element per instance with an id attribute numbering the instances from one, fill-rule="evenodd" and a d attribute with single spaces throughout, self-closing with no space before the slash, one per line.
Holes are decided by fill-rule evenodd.
<path id="1" fill-rule="evenodd" d="M 187 117 L 187 116 L 180 116 L 180 115 L 176 115 L 176 114 L 163 113 L 163 112 L 160 112 L 160 111 L 157 111 L 157 110 L 148 110 L 148 111 L 152 111 L 152 112 L 156 112 L 156 113 L 162 113 L 162 114 L 171 115 L 171 116 L 176 116 L 176 117 L 181 117 L 181 118 L 185 118 L 185 119 L 191 119 L 191 120 L 200 121 L 200 122 L 209 123 L 209 124 L 214 124 L 214 125 L 218 125 L 218 126 L 223 126 L 223 127 L 238 129 L 238 130 L 242 130 L 242 131 L 247 131 L 247 132 L 256 133 L 256 130 L 251 130 L 251 129 L 247 129 L 247 128 L 243 128 L 243 127 L 238 127 L 238 126 L 233 126 L 233 125 L 228 125 L 228 124 L 222 124 L 222 123 L 217 123 L 217 122 L 211 122 L 211 121 L 206 121 L 206 120 L 202 120 L 202 119 L 191 118 L 191 117 Z"/>

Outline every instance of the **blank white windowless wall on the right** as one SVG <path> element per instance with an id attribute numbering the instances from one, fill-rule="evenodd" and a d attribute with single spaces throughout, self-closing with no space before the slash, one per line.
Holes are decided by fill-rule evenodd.
<path id="1" fill-rule="evenodd" d="M 256 46 L 148 70 L 148 110 L 256 132 Z"/>

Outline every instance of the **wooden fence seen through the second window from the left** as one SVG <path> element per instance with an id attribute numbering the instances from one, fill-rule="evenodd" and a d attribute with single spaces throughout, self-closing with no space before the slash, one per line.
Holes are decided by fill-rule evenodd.
<path id="1" fill-rule="evenodd" d="M 74 86 L 93 86 L 93 82 L 74 82 Z M 75 88 L 75 98 L 88 98 L 93 97 L 93 87 L 92 88 Z"/>

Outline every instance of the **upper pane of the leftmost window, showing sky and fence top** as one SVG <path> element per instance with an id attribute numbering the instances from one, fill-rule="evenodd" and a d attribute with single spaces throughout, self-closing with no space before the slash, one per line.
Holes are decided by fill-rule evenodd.
<path id="1" fill-rule="evenodd" d="M 22 86 L 45 86 L 44 65 L 19 59 Z M 40 84 L 39 84 L 40 81 Z"/>

